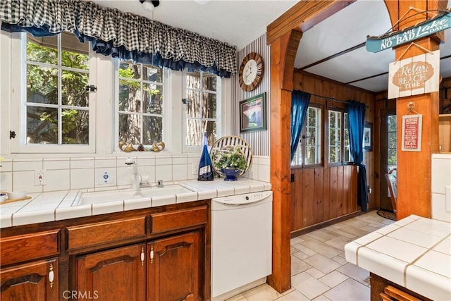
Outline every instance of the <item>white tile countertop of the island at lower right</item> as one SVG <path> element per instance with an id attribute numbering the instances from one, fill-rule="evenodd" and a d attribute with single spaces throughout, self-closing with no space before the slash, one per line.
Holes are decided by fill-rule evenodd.
<path id="1" fill-rule="evenodd" d="M 346 260 L 432 300 L 451 300 L 451 223 L 411 215 L 345 245 Z"/>

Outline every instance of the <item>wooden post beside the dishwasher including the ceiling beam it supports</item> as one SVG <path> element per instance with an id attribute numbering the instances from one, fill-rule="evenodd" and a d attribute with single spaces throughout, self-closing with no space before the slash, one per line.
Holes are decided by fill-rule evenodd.
<path id="1" fill-rule="evenodd" d="M 279 293 L 291 288 L 290 114 L 293 71 L 301 30 L 332 16 L 356 0 L 299 1 L 267 27 L 271 44 L 271 185 L 273 190 L 273 274 Z"/>

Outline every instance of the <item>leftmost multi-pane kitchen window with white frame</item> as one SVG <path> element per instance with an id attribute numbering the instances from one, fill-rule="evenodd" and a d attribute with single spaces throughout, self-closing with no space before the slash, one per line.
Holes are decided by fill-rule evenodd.
<path id="1" fill-rule="evenodd" d="M 13 152 L 90 152 L 94 150 L 94 114 L 89 43 L 67 32 L 51 37 L 18 34 L 12 56 Z M 14 50 L 17 50 L 14 51 Z M 18 68 L 16 68 L 18 67 Z"/>

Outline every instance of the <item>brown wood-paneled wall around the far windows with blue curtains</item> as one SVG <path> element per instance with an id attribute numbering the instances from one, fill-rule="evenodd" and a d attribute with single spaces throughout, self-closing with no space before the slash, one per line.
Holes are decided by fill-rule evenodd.
<path id="1" fill-rule="evenodd" d="M 376 207 L 375 199 L 375 158 L 378 136 L 374 129 L 375 95 L 372 92 L 351 87 L 340 82 L 328 80 L 301 70 L 295 70 L 293 90 L 334 97 L 339 100 L 357 100 L 368 106 L 365 121 L 373 123 L 373 151 L 364 152 L 367 184 L 373 193 L 369 195 L 369 209 Z M 311 97 L 311 104 L 324 107 L 345 107 L 342 102 L 335 102 L 320 97 Z M 324 131 L 323 131 L 324 133 Z M 324 136 L 324 135 L 323 135 Z M 315 168 L 292 168 L 295 181 L 291 183 L 291 228 L 298 231 L 331 219 L 352 214 L 360 210 L 357 205 L 357 167 L 354 165 L 328 165 L 327 137 L 323 137 L 323 166 Z"/>

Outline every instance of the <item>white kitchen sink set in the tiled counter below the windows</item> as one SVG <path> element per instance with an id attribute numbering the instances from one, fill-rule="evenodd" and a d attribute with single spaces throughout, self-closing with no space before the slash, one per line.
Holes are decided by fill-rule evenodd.
<path id="1" fill-rule="evenodd" d="M 193 192 L 183 186 L 165 185 L 162 188 L 141 188 L 140 191 L 131 189 L 106 190 L 96 192 L 83 192 L 75 199 L 75 205 L 82 204 L 99 204 L 117 201 L 125 201 L 127 199 L 150 199 L 151 197 L 163 197 L 166 195 L 177 195 L 182 193 Z"/>

